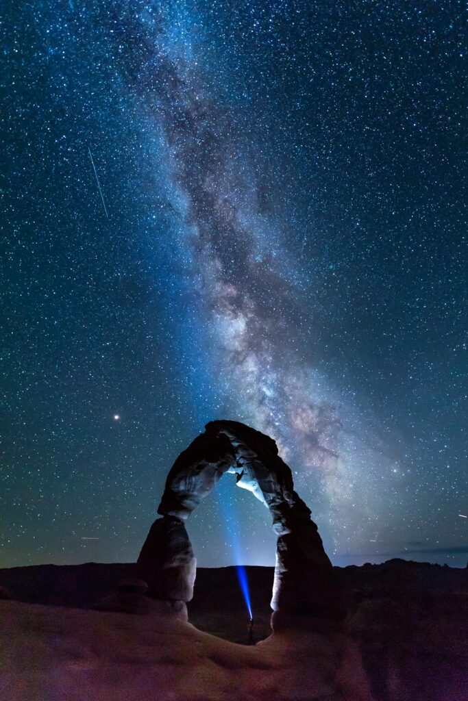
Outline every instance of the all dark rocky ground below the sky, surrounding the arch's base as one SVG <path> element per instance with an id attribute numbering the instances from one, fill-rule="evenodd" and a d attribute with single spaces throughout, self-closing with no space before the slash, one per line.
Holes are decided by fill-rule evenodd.
<path id="1" fill-rule="evenodd" d="M 272 635 L 273 569 L 247 570 L 255 646 L 239 644 L 248 621 L 233 568 L 199 569 L 190 622 L 159 604 L 144 615 L 89 610 L 131 564 L 0 570 L 11 596 L 0 601 L 0 698 L 468 700 L 468 569 L 336 569 L 344 624 L 297 618 Z"/>

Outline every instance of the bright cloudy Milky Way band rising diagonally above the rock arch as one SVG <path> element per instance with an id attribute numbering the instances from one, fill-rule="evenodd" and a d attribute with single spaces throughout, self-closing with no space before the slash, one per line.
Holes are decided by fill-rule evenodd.
<path id="1" fill-rule="evenodd" d="M 185 57 L 190 30 L 179 46 L 165 20 L 163 11 L 145 6 L 140 18 L 119 17 L 114 26 L 118 41 L 131 36 L 133 88 L 166 139 L 168 176 L 184 203 L 182 245 L 193 266 L 187 285 L 196 293 L 194 314 L 213 384 L 222 388 L 219 414 L 276 439 L 295 467 L 298 488 L 321 491 L 319 508 L 331 523 L 340 513 L 334 538 L 340 544 L 346 529 L 356 534 L 375 521 L 382 504 L 376 468 L 387 472 L 398 463 L 360 422 L 352 430 L 356 407 L 346 405 L 309 358 L 309 333 L 302 329 L 314 309 L 301 299 L 281 222 L 261 212 L 255 144 L 238 133 L 235 107 L 210 93 L 210 75 L 196 55 Z"/>

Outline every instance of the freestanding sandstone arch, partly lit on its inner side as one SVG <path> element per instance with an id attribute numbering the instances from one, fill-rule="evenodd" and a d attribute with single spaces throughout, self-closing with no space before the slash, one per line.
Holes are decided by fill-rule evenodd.
<path id="1" fill-rule="evenodd" d="M 272 595 L 274 612 L 339 618 L 340 595 L 310 510 L 296 494 L 288 465 L 272 438 L 237 421 L 210 421 L 171 468 L 152 525 L 138 557 L 149 595 L 190 601 L 196 560 L 185 521 L 225 472 L 236 473 L 269 508 L 278 535 Z M 182 605 L 182 604 L 180 604 Z"/>

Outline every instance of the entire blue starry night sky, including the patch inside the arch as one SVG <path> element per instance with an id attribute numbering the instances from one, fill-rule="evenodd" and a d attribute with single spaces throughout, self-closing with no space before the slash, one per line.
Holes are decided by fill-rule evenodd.
<path id="1" fill-rule="evenodd" d="M 207 421 L 334 564 L 468 558 L 462 5 L 5 13 L 0 566 L 131 562 Z M 201 566 L 274 564 L 226 475 Z"/>

